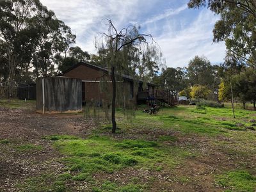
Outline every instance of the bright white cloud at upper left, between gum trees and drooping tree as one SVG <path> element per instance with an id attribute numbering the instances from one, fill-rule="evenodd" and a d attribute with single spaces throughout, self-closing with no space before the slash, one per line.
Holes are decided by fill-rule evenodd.
<path id="1" fill-rule="evenodd" d="M 53 10 L 57 17 L 65 22 L 77 35 L 76 43 L 88 52 L 95 52 L 93 40 L 99 32 L 104 32 L 102 19 L 112 19 L 117 27 L 128 23 L 132 15 L 136 15 L 133 7 L 139 0 L 41 0 L 42 4 Z"/>

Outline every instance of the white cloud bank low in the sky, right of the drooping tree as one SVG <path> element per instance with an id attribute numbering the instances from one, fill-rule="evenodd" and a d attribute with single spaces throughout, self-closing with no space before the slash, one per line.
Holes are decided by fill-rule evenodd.
<path id="1" fill-rule="evenodd" d="M 212 43 L 212 28 L 217 19 L 208 10 L 203 10 L 188 28 L 170 31 L 156 38 L 166 58 L 166 65 L 184 67 L 196 55 L 206 56 L 211 63 L 223 61 L 225 44 Z"/>

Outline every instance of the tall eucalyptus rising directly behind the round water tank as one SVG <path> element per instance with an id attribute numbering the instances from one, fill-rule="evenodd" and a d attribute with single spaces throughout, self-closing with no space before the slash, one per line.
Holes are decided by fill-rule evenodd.
<path id="1" fill-rule="evenodd" d="M 36 74 L 38 76 L 51 76 L 56 71 L 55 64 L 62 61 L 61 54 L 65 54 L 70 45 L 75 43 L 76 35 L 65 23 L 56 18 L 54 12 L 44 7 L 38 10 L 33 18 L 38 30 L 38 39 L 33 55 Z"/>

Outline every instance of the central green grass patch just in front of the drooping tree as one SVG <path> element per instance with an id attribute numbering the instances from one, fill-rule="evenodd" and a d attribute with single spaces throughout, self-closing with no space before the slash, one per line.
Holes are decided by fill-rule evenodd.
<path id="1" fill-rule="evenodd" d="M 68 156 L 63 161 L 74 173 L 112 173 L 129 166 L 154 168 L 156 164 L 171 168 L 179 163 L 180 157 L 189 156 L 184 150 L 166 148 L 154 141 L 119 141 L 103 136 L 57 140 L 54 147 Z"/>

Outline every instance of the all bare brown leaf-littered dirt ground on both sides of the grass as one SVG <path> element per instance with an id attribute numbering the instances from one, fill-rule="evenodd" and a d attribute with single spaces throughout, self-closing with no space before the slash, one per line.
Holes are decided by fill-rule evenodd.
<path id="1" fill-rule="evenodd" d="M 71 134 L 85 138 L 92 132 L 94 125 L 82 117 L 82 115 L 40 115 L 28 109 L 0 108 L 0 140 L 8 140 L 13 146 L 33 143 L 44 147 L 31 154 L 19 153 L 8 145 L 1 145 L 0 191 L 19 191 L 17 183 L 44 172 L 54 170 L 56 174 L 61 173 L 64 165 L 58 159 L 63 155 L 52 148 L 50 141 L 44 140 L 42 137 L 52 134 Z M 155 136 L 157 131 L 147 134 Z M 168 134 L 177 133 L 168 132 Z M 131 134 L 127 134 L 127 138 L 130 137 Z M 218 140 L 232 142 L 232 138 L 221 136 L 218 137 Z M 221 186 L 214 183 L 214 174 L 221 173 L 221 170 L 239 167 L 237 162 L 243 161 L 243 159 L 236 154 L 227 154 L 221 149 L 218 150 L 211 145 L 211 142 L 212 139 L 206 137 L 196 137 L 196 139 L 193 136 L 179 137 L 179 142 L 175 143 L 177 147 L 190 146 L 201 155 L 186 159 L 186 163 L 174 168 L 172 173 L 127 168 L 122 173 L 100 174 L 95 177 L 124 183 L 127 178 L 132 176 L 140 177 L 145 179 L 145 183 L 151 182 L 152 189 L 150 191 L 161 191 L 162 189 L 168 189 L 168 191 L 223 191 Z M 248 166 L 255 169 L 255 164 L 256 159 L 252 156 Z M 158 179 L 148 181 L 150 177 Z M 181 182 L 180 179 L 177 179 L 180 177 L 186 177 L 188 180 Z M 82 191 L 86 191 L 86 189 Z"/>

